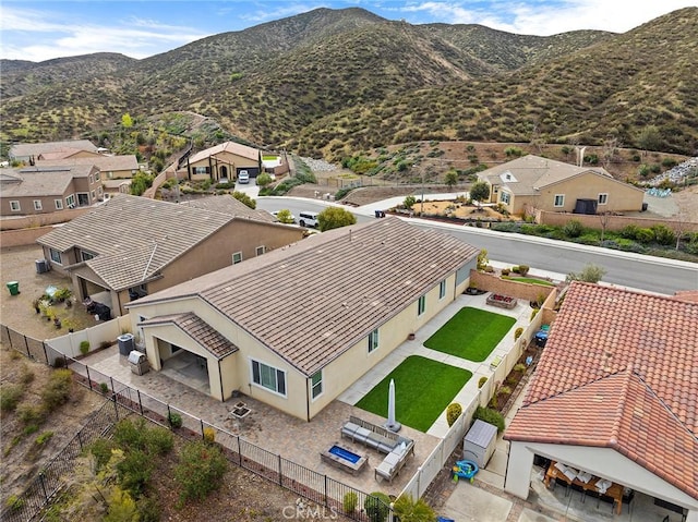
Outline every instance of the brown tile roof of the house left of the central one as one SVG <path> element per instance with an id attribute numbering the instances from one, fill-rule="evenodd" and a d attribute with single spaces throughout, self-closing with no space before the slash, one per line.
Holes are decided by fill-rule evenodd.
<path id="1" fill-rule="evenodd" d="M 117 195 L 37 242 L 60 252 L 80 247 L 97 254 L 86 265 L 111 289 L 122 290 L 156 276 L 233 219 L 234 214 Z"/>

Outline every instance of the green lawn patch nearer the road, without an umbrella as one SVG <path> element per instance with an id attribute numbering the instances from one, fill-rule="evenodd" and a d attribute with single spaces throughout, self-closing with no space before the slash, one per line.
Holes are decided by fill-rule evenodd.
<path id="1" fill-rule="evenodd" d="M 468 361 L 482 362 L 516 319 L 466 306 L 426 339 L 424 345 Z"/>

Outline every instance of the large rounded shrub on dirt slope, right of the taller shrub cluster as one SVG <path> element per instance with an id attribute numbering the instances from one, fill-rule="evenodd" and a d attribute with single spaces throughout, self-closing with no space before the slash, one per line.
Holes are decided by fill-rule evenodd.
<path id="1" fill-rule="evenodd" d="M 180 462 L 174 468 L 179 483 L 180 503 L 190 499 L 203 500 L 220 485 L 220 477 L 228 469 L 228 461 L 215 445 L 201 440 L 188 442 L 182 448 Z"/>

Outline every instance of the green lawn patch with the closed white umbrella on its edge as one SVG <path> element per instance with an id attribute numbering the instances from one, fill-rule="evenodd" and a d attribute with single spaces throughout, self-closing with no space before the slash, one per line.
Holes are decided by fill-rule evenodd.
<path id="1" fill-rule="evenodd" d="M 387 418 L 388 388 L 390 379 L 395 379 L 395 420 L 426 432 L 470 377 L 472 373 L 467 369 L 412 355 L 366 393 L 357 406 Z"/>

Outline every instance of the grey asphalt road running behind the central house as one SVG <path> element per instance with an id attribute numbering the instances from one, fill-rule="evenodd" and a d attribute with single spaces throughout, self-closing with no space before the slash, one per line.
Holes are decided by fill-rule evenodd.
<path id="1" fill-rule="evenodd" d="M 301 210 L 322 211 L 326 206 L 325 202 L 292 198 L 257 199 L 260 209 L 272 211 L 288 208 L 296 216 Z M 357 210 L 354 215 L 358 222 L 375 219 L 369 210 Z M 578 272 L 585 265 L 592 263 L 606 270 L 604 282 L 663 294 L 673 294 L 677 290 L 698 290 L 698 264 L 694 263 L 471 227 L 419 219 L 412 221 L 420 227 L 443 230 L 478 248 L 485 248 L 490 259 L 512 265 L 528 265 L 539 270 L 569 274 Z"/>

